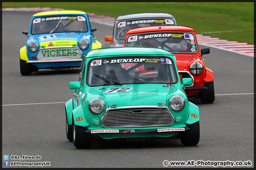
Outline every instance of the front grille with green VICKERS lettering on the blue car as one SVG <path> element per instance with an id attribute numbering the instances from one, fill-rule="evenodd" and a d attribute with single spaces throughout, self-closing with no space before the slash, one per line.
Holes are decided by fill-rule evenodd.
<path id="1" fill-rule="evenodd" d="M 82 52 L 77 47 L 47 48 L 40 49 L 36 57 L 37 60 L 78 59 Z"/>

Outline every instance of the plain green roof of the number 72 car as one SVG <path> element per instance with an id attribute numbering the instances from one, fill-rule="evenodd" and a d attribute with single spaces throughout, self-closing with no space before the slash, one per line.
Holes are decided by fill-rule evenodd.
<path id="1" fill-rule="evenodd" d="M 84 54 L 87 58 L 100 58 L 110 56 L 168 56 L 174 55 L 166 50 L 150 47 L 110 47 L 90 50 Z"/>

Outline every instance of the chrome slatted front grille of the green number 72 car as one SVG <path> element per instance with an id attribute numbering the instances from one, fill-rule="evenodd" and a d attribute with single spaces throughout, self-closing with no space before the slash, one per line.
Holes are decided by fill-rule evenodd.
<path id="1" fill-rule="evenodd" d="M 165 106 L 135 106 L 107 109 L 101 122 L 105 128 L 129 128 L 170 126 L 173 120 L 173 115 Z"/>

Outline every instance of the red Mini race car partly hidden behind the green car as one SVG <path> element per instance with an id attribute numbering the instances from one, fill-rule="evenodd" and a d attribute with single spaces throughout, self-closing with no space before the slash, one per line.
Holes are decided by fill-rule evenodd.
<path id="1" fill-rule="evenodd" d="M 185 26 L 151 26 L 127 31 L 124 46 L 156 47 L 174 54 L 180 80 L 192 78 L 192 86 L 186 86 L 188 97 L 200 98 L 202 103 L 213 103 L 213 72 L 202 58 L 210 49 L 199 51 L 196 33 Z"/>

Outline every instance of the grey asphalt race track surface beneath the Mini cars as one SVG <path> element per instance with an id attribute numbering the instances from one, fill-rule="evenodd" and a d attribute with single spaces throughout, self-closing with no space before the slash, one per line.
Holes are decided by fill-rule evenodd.
<path id="1" fill-rule="evenodd" d="M 200 112 L 201 137 L 197 146 L 185 147 L 179 139 L 103 140 L 94 141 L 90 149 L 76 149 L 66 138 L 64 102 L 73 97 L 69 81 L 78 81 L 79 69 L 42 69 L 31 76 L 20 74 L 19 50 L 27 39 L 22 31 L 29 31 L 34 13 L 2 11 L 2 155 L 42 157 L 9 159 L 9 164 L 40 161 L 50 162 L 44 168 L 164 168 L 165 160 L 250 160 L 252 166 L 234 167 L 254 167 L 253 57 L 214 48 L 203 56 L 206 66 L 214 73 L 216 96 L 212 104 L 190 100 Z M 91 25 L 97 28 L 94 33 L 97 40 L 105 45 L 104 36 L 112 36 L 113 28 L 93 22 Z M 18 167 L 28 168 L 13 166 Z"/>

